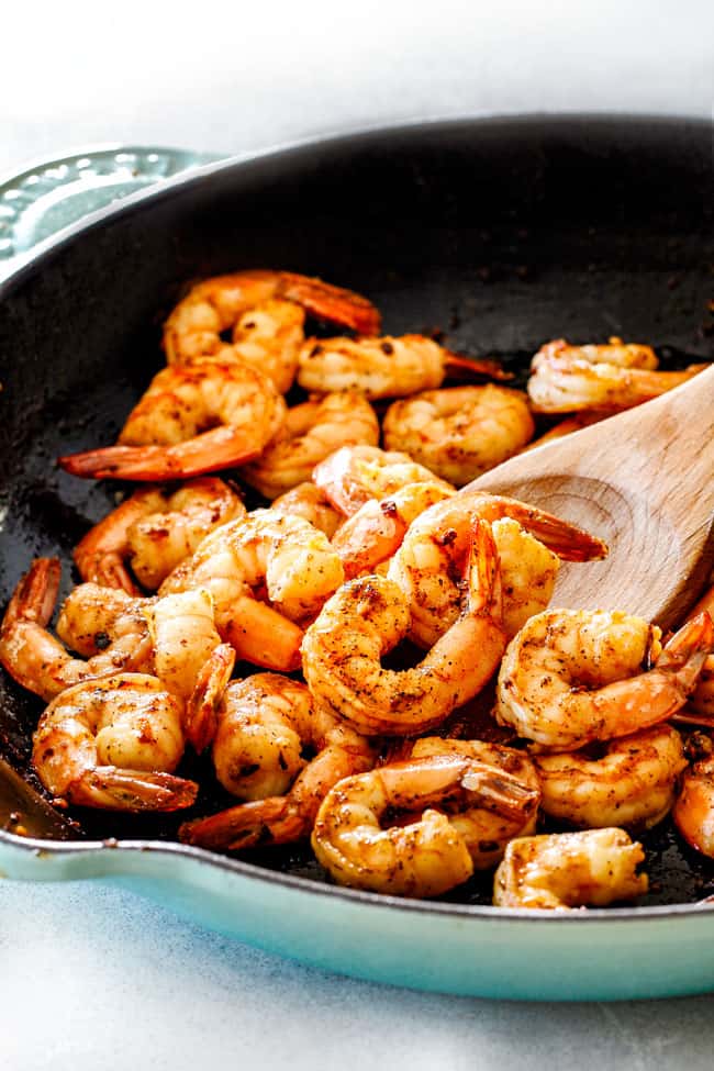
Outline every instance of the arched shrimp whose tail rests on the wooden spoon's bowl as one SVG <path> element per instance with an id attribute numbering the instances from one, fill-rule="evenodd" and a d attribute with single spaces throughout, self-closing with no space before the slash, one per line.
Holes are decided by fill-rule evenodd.
<path id="1" fill-rule="evenodd" d="M 492 525 L 501 560 L 509 637 L 548 604 L 558 569 L 556 555 L 570 561 L 587 561 L 606 554 L 601 539 L 504 495 L 465 490 L 431 506 L 410 525 L 389 568 L 390 579 L 409 596 L 410 638 L 421 647 L 433 647 L 458 617 L 460 578 L 477 518 Z M 505 518 L 511 518 L 511 523 Z"/>

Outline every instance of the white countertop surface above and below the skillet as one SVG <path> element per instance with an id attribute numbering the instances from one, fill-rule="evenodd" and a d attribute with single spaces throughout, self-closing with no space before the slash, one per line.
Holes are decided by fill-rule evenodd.
<path id="1" fill-rule="evenodd" d="M 488 9 L 488 10 L 487 10 Z M 124 142 L 219 153 L 392 120 L 710 115 L 711 0 L 12 5 L 0 171 Z M 0 1067 L 712 1067 L 714 999 L 534 1005 L 328 975 L 100 883 L 0 882 Z"/>

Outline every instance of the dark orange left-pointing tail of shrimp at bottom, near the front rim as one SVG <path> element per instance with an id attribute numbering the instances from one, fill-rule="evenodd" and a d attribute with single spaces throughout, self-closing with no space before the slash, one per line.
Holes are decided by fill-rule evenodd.
<path id="1" fill-rule="evenodd" d="M 239 851 L 261 844 L 295 840 L 301 833 L 294 828 L 295 824 L 302 826 L 301 819 L 289 813 L 287 796 L 268 796 L 241 803 L 208 818 L 185 822 L 179 829 L 179 839 L 201 848 Z"/>

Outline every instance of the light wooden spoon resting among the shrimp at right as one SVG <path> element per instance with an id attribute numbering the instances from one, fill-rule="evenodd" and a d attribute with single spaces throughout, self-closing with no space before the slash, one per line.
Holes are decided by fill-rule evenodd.
<path id="1" fill-rule="evenodd" d="M 564 562 L 551 605 L 624 610 L 672 627 L 714 560 L 714 367 L 511 458 L 469 489 L 523 499 L 605 539 L 604 560 Z"/>

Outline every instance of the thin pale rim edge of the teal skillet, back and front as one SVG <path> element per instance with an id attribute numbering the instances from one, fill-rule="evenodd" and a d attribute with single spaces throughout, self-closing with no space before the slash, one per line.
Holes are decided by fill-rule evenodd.
<path id="1" fill-rule="evenodd" d="M 12 270 L 0 280 L 0 301 L 11 298 L 12 294 L 29 279 L 38 272 L 46 264 L 52 263 L 64 248 L 81 241 L 85 232 L 93 231 L 111 223 L 123 214 L 143 212 L 155 201 L 168 200 L 178 196 L 185 187 L 198 185 L 199 182 L 210 181 L 215 175 L 223 175 L 227 171 L 247 170 L 252 166 L 260 166 L 272 161 L 282 163 L 289 167 L 291 159 L 299 159 L 301 155 L 316 149 L 330 148 L 333 152 L 352 148 L 355 145 L 368 146 L 379 144 L 390 138 L 412 137 L 419 138 L 420 134 L 448 134 L 450 132 L 466 132 L 471 130 L 478 133 L 479 130 L 489 129 L 499 132 L 501 129 L 503 136 L 511 130 L 536 130 L 538 127 L 548 132 L 564 132 L 568 130 L 582 129 L 588 124 L 598 127 L 600 136 L 607 130 L 625 133 L 627 129 L 636 131 L 638 127 L 647 129 L 660 134 L 669 131 L 681 132 L 682 126 L 687 125 L 695 137 L 706 137 L 711 141 L 714 134 L 714 120 L 701 115 L 682 114 L 657 114 L 657 113 L 636 113 L 636 112 L 531 112 L 531 113 L 504 113 L 490 115 L 458 115 L 448 119 L 435 118 L 428 120 L 414 119 L 398 124 L 377 124 L 359 126 L 347 132 L 327 132 L 319 136 L 305 136 L 294 141 L 278 143 L 268 146 L 256 153 L 234 154 L 222 158 L 212 164 L 191 169 L 186 174 L 175 176 L 161 183 L 136 191 L 122 199 L 120 202 L 99 209 L 82 220 L 63 228 L 56 235 L 41 242 L 33 250 L 21 254 L 16 265 Z M 362 890 L 346 889 L 333 885 L 327 882 L 317 882 L 311 878 L 303 878 L 293 874 L 286 874 L 275 870 L 267 870 L 256 863 L 246 862 L 242 859 L 234 859 L 228 856 L 219 855 L 203 848 L 182 845 L 178 841 L 161 840 L 77 840 L 58 841 L 43 838 L 21 837 L 15 834 L 0 829 L 0 846 L 7 845 L 11 849 L 27 851 L 37 857 L 63 857 L 63 856 L 102 856 L 105 852 L 112 854 L 141 854 L 142 856 L 180 856 L 196 860 L 198 863 L 207 864 L 217 870 L 227 871 L 247 878 L 252 881 L 269 882 L 281 885 L 294 892 L 304 894 L 319 894 L 322 896 L 337 897 L 353 904 L 381 906 L 384 910 L 398 908 L 416 914 L 437 914 L 440 916 L 456 916 L 461 919 L 477 918 L 488 919 L 491 924 L 498 922 L 520 922 L 531 923 L 535 919 L 540 925 L 576 925 L 595 924 L 598 922 L 632 922 L 634 919 L 645 919 L 654 922 L 656 919 L 666 921 L 672 917 L 689 915 L 706 915 L 714 912 L 714 902 L 706 901 L 687 904 L 667 904 L 647 907 L 616 907 L 616 908 L 588 908 L 587 912 L 562 912 L 544 913 L 531 908 L 495 907 L 493 905 L 458 904 L 444 903 L 431 900 L 413 900 L 391 896 L 381 893 L 371 893 Z M 105 877 L 121 877 L 121 870 L 107 873 Z M 104 877 L 104 875 L 102 875 Z"/>

